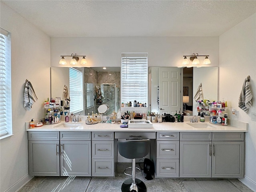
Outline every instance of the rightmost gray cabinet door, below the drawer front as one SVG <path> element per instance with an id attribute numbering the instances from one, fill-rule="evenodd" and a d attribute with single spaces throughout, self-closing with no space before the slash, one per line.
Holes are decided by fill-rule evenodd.
<path id="1" fill-rule="evenodd" d="M 212 142 L 212 177 L 241 178 L 244 176 L 244 142 Z"/>

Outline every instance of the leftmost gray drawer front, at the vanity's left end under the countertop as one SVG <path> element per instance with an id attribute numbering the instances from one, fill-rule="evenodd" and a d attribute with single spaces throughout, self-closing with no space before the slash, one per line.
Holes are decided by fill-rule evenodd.
<path id="1" fill-rule="evenodd" d="M 59 140 L 58 131 L 29 131 L 28 140 Z"/>

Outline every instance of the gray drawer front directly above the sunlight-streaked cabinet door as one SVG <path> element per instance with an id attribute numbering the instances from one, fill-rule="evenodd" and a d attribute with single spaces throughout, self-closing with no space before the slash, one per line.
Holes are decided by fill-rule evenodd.
<path id="1" fill-rule="evenodd" d="M 60 140 L 91 140 L 91 133 L 83 131 L 61 131 Z"/>

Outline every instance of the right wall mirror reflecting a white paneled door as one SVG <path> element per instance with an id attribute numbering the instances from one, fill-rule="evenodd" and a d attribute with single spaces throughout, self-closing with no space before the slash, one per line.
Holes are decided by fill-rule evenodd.
<path id="1" fill-rule="evenodd" d="M 197 115 L 194 96 L 201 84 L 203 99 L 219 99 L 218 67 L 150 67 L 148 71 L 151 111 L 175 114 L 176 110 L 185 110 L 189 115 Z"/>

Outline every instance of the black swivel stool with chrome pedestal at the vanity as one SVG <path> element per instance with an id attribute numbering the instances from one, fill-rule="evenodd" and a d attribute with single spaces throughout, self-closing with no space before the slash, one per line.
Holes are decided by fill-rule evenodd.
<path id="1" fill-rule="evenodd" d="M 147 188 L 142 180 L 136 179 L 136 158 L 145 157 L 150 149 L 150 139 L 117 141 L 121 156 L 132 159 L 132 178 L 122 184 L 122 192 L 146 192 Z"/>

